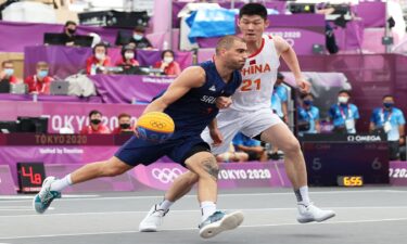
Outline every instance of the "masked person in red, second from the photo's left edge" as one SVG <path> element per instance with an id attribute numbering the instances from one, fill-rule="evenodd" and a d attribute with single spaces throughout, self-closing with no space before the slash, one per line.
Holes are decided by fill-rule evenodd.
<path id="1" fill-rule="evenodd" d="M 49 94 L 50 84 L 53 80 L 53 78 L 49 76 L 48 63 L 38 62 L 36 68 L 37 74 L 28 76 L 24 80 L 24 82 L 28 87 L 28 93 Z"/>

